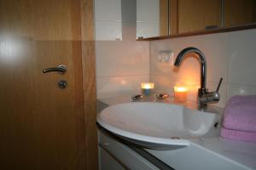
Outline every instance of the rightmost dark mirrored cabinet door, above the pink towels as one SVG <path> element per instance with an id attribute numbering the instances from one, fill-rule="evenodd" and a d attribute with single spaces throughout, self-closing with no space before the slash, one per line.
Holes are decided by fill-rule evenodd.
<path id="1" fill-rule="evenodd" d="M 224 0 L 224 27 L 256 22 L 255 0 Z"/>

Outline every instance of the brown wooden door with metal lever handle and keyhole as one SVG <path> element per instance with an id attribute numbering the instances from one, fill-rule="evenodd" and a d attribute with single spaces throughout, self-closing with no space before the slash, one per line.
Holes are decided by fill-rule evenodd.
<path id="1" fill-rule="evenodd" d="M 0 0 L 0 169 L 86 167 L 80 4 Z"/>

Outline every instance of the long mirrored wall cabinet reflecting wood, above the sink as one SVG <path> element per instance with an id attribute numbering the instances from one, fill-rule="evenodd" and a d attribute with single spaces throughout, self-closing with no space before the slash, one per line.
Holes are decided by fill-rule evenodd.
<path id="1" fill-rule="evenodd" d="M 255 0 L 137 0 L 137 39 L 247 29 L 255 24 Z"/>

